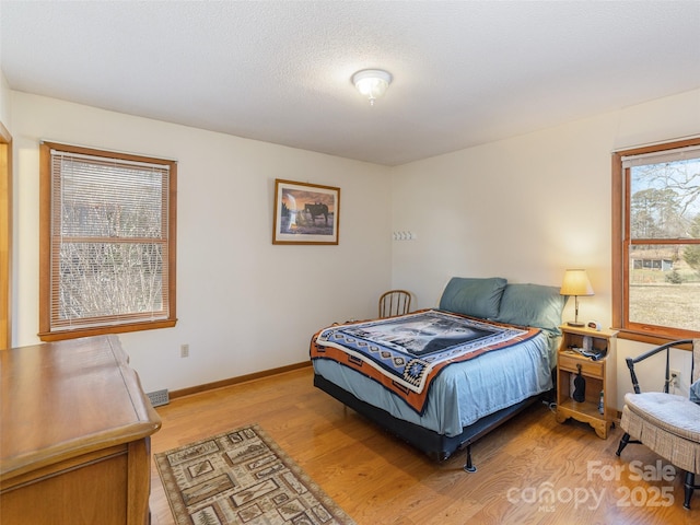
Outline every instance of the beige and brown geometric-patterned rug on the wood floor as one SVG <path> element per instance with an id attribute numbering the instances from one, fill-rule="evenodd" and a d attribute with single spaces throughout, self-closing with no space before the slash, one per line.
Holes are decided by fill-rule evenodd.
<path id="1" fill-rule="evenodd" d="M 354 525 L 257 424 L 154 457 L 178 525 Z"/>

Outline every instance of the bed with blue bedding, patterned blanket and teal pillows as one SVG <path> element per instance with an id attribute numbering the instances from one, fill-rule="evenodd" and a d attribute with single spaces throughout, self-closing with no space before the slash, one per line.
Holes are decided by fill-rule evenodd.
<path id="1" fill-rule="evenodd" d="M 314 385 L 445 460 L 552 388 L 565 298 L 541 284 L 454 277 L 439 306 L 336 324 L 311 341 Z"/>

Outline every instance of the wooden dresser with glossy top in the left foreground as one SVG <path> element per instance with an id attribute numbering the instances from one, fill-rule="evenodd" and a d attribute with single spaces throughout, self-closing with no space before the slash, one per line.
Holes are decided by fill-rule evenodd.
<path id="1" fill-rule="evenodd" d="M 0 350 L 3 524 L 149 523 L 161 419 L 114 336 Z"/>

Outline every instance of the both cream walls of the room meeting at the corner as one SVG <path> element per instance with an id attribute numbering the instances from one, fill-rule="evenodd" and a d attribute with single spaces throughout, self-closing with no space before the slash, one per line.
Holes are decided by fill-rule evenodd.
<path id="1" fill-rule="evenodd" d="M 595 296 L 580 315 L 607 326 L 610 152 L 700 133 L 698 90 L 389 170 L 12 95 L 15 345 L 37 341 L 39 139 L 178 160 L 179 322 L 121 337 L 147 392 L 304 361 L 313 331 L 374 315 L 387 287 L 433 306 L 452 276 L 559 285 L 565 268 L 584 267 Z M 271 245 L 276 177 L 341 187 L 339 246 Z M 417 238 L 392 242 L 392 231 Z M 646 348 L 618 345 L 618 408 L 623 358 Z"/>

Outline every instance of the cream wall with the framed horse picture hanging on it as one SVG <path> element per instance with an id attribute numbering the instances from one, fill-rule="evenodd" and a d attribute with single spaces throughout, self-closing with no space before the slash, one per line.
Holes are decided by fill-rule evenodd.
<path id="1" fill-rule="evenodd" d="M 389 168 L 13 92 L 14 346 L 38 342 L 42 139 L 178 161 L 175 328 L 120 336 L 147 392 L 308 359 L 390 284 Z M 275 178 L 340 187 L 338 246 L 271 244 Z M 190 357 L 179 357 L 188 343 Z"/>

